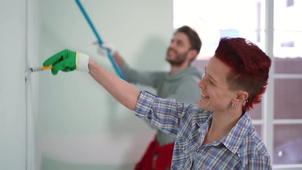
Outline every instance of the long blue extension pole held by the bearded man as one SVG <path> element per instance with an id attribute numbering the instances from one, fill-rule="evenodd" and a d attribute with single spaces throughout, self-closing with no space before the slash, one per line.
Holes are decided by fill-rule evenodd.
<path id="1" fill-rule="evenodd" d="M 102 44 L 103 44 L 103 41 L 102 41 L 101 37 L 99 36 L 98 32 L 96 31 L 96 29 L 94 28 L 94 26 L 93 26 L 93 24 L 92 24 L 92 22 L 91 22 L 91 20 L 90 20 L 90 18 L 89 18 L 89 16 L 88 16 L 88 14 L 86 13 L 86 11 L 84 10 L 82 4 L 80 3 L 80 0 L 75 0 L 75 1 L 76 1 L 77 5 L 79 6 L 80 10 L 82 11 L 84 17 L 86 18 L 88 24 L 90 25 L 90 27 L 91 27 L 93 33 L 94 33 L 95 36 L 97 37 L 99 44 L 102 45 Z M 121 71 L 121 69 L 118 67 L 118 65 L 116 64 L 116 62 L 115 62 L 115 60 L 113 59 L 112 55 L 110 54 L 110 50 L 109 50 L 109 49 L 107 49 L 107 54 L 108 54 L 108 57 L 109 57 L 110 61 L 112 62 L 113 67 L 115 68 L 117 74 L 118 74 L 123 80 L 126 80 L 125 77 L 124 77 L 124 75 L 123 75 L 123 73 L 122 73 L 122 71 Z"/>

